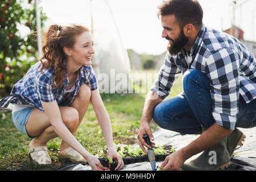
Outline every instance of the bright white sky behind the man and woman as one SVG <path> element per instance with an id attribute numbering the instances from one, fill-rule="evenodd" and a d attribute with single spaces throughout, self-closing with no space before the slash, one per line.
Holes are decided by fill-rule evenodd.
<path id="1" fill-rule="evenodd" d="M 205 26 L 222 31 L 228 29 L 232 19 L 235 19 L 236 26 L 245 32 L 245 40 L 256 42 L 255 0 L 237 0 L 236 16 L 232 15 L 233 0 L 199 2 L 204 10 Z M 160 3 L 162 0 L 92 0 L 91 7 L 89 0 L 40 0 L 49 18 L 46 27 L 54 23 L 80 23 L 91 28 L 92 10 L 97 26 L 107 28 L 110 18 L 114 18 L 124 48 L 152 55 L 165 52 L 167 46 L 167 40 L 161 37 L 162 26 L 156 15 Z M 106 15 L 106 10 L 112 15 Z"/>

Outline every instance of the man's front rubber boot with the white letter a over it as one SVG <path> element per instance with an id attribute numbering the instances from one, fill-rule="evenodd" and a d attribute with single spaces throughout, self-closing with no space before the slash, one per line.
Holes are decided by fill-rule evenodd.
<path id="1" fill-rule="evenodd" d="M 205 150 L 198 158 L 183 164 L 183 171 L 216 171 L 230 166 L 230 155 L 226 148 L 228 137 Z"/>

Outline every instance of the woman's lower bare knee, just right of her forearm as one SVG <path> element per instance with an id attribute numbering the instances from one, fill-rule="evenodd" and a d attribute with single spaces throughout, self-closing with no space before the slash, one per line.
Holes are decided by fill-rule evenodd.
<path id="1" fill-rule="evenodd" d="M 63 122 L 69 130 L 75 129 L 79 124 L 79 112 L 74 107 L 69 107 L 64 112 Z"/>

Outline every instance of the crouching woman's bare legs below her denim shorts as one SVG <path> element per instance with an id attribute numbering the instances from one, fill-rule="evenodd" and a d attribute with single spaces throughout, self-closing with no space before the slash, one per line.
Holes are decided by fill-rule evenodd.
<path id="1" fill-rule="evenodd" d="M 61 107 L 60 112 L 64 124 L 68 127 L 73 135 L 75 135 L 84 114 L 88 109 L 90 101 L 90 88 L 86 84 L 82 84 L 79 94 L 77 94 L 71 107 Z M 53 126 L 48 120 L 44 111 L 34 109 L 26 124 L 28 135 L 37 136 L 30 142 L 30 147 L 46 146 L 48 140 L 58 137 Z M 64 141 L 61 143 L 60 151 L 68 148 L 68 144 Z"/>

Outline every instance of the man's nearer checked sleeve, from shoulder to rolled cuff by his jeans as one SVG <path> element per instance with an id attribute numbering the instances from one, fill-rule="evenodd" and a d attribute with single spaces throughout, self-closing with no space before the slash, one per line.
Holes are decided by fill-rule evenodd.
<path id="1" fill-rule="evenodd" d="M 205 73 L 210 78 L 213 118 L 218 125 L 234 130 L 240 94 L 239 56 L 232 48 L 223 48 L 213 52 L 206 64 Z"/>

